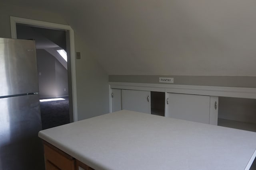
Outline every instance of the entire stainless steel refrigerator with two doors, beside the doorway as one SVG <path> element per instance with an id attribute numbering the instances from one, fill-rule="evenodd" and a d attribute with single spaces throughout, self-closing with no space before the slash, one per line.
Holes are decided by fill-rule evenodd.
<path id="1" fill-rule="evenodd" d="M 43 170 L 35 42 L 0 38 L 0 170 Z"/>

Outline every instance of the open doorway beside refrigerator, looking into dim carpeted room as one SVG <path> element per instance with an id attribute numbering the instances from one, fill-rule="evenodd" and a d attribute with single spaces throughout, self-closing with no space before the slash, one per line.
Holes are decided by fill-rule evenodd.
<path id="1" fill-rule="evenodd" d="M 42 129 L 70 123 L 66 31 L 16 24 L 18 39 L 34 39 Z"/>

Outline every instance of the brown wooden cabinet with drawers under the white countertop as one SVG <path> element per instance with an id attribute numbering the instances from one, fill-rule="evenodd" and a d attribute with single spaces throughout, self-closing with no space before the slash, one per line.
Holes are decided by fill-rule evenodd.
<path id="1" fill-rule="evenodd" d="M 46 170 L 94 170 L 45 141 L 44 161 Z"/>

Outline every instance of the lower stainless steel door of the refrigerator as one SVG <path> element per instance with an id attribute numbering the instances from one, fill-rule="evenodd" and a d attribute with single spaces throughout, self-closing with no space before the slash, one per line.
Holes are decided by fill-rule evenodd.
<path id="1" fill-rule="evenodd" d="M 0 98 L 0 170 L 44 170 L 38 94 Z"/>

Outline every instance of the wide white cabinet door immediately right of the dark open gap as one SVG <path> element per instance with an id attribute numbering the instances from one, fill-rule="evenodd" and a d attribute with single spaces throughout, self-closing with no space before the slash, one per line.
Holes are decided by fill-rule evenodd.
<path id="1" fill-rule="evenodd" d="M 210 96 L 168 93 L 167 117 L 209 124 Z"/>

